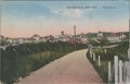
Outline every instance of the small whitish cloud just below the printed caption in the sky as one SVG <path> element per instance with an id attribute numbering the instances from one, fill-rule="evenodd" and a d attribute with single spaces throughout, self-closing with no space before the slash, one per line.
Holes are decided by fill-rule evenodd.
<path id="1" fill-rule="evenodd" d="M 82 11 L 79 9 L 76 10 L 60 10 L 60 11 L 54 11 L 55 14 L 58 14 L 63 17 L 69 17 L 69 19 L 80 19 L 82 16 Z"/>

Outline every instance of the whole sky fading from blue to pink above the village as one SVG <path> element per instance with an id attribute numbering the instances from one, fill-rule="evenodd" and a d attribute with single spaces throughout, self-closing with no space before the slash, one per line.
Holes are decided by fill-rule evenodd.
<path id="1" fill-rule="evenodd" d="M 1 34 L 30 37 L 89 32 L 127 32 L 127 1 L 3 1 Z"/>

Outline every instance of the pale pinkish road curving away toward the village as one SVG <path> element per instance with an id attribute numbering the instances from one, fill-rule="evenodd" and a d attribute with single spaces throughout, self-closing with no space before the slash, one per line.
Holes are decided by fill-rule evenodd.
<path id="1" fill-rule="evenodd" d="M 68 53 L 15 84 L 101 84 L 102 80 L 86 55 L 87 49 Z"/>

